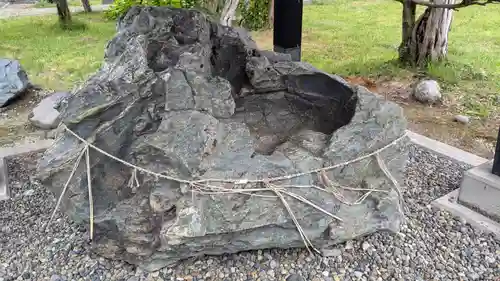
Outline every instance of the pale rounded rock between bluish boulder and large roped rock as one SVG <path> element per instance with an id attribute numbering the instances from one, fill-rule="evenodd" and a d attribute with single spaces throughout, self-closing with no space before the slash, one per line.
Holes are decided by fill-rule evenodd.
<path id="1" fill-rule="evenodd" d="M 29 121 L 40 129 L 55 129 L 61 122 L 61 113 L 57 110 L 61 102 L 69 97 L 68 92 L 56 92 L 43 100 L 33 108 L 28 116 Z"/>

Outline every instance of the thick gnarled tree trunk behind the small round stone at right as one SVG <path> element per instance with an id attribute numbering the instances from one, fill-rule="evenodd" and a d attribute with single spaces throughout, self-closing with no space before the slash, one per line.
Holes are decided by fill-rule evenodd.
<path id="1" fill-rule="evenodd" d="M 439 61 L 448 53 L 448 32 L 453 10 L 427 8 L 415 22 L 414 4 L 406 0 L 403 4 L 403 42 L 399 48 L 399 58 L 412 65 L 423 66 L 428 62 Z M 453 4 L 454 0 L 435 0 L 436 4 Z M 413 15 L 413 25 L 409 33 Z"/>

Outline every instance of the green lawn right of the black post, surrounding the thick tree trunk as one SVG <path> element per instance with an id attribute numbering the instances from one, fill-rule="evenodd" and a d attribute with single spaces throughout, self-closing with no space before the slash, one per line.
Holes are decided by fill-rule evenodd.
<path id="1" fill-rule="evenodd" d="M 454 95 L 460 111 L 480 117 L 500 112 L 500 5 L 454 12 L 448 61 L 422 71 L 396 63 L 401 40 L 399 2 L 320 3 L 304 7 L 303 60 L 341 75 L 402 79 L 429 76 L 442 82 L 447 94 Z M 257 32 L 255 36 L 265 47 L 272 47 L 269 32 Z"/>

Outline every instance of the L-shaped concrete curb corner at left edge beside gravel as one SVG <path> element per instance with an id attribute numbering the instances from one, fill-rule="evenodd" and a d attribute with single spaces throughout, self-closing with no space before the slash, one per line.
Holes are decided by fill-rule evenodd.
<path id="1" fill-rule="evenodd" d="M 26 143 L 16 147 L 0 148 L 0 201 L 10 198 L 10 191 L 8 188 L 9 174 L 6 159 L 25 153 L 45 150 L 49 148 L 53 142 L 53 140 L 41 140 L 35 143 Z"/>

